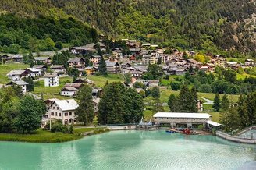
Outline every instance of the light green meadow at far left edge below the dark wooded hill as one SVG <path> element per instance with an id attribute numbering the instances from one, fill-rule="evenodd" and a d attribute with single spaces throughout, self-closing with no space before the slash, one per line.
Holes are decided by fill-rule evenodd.
<path id="1" fill-rule="evenodd" d="M 11 70 L 14 69 L 26 69 L 29 65 L 19 64 L 19 63 L 9 63 L 5 65 L 0 65 L 0 83 L 8 83 L 9 79 L 6 76 Z"/>

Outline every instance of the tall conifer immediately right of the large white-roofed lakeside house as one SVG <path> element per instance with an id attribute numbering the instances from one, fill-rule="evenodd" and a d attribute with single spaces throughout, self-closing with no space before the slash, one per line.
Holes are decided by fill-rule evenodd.
<path id="1" fill-rule="evenodd" d="M 92 88 L 88 85 L 81 87 L 78 94 L 79 107 L 76 108 L 75 114 L 80 122 L 84 122 L 86 125 L 88 122 L 92 122 L 94 119 L 94 105 L 91 96 Z"/>

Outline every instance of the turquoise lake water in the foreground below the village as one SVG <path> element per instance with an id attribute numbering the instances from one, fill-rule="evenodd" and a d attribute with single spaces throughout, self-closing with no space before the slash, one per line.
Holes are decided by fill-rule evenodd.
<path id="1" fill-rule="evenodd" d="M 0 142 L 0 169 L 236 169 L 256 146 L 216 136 L 112 131 L 67 143 Z"/>

